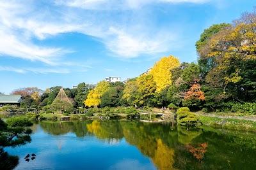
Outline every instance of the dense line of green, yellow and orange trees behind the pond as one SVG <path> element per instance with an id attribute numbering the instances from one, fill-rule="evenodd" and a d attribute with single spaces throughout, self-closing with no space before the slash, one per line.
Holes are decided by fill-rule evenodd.
<path id="1" fill-rule="evenodd" d="M 256 8 L 232 24 L 214 24 L 196 41 L 198 61 L 179 62 L 172 55 L 157 61 L 148 74 L 127 83 L 100 81 L 64 89 L 76 107 L 187 106 L 191 110 L 256 110 Z M 22 106 L 49 106 L 60 86 L 44 92 L 15 90 Z M 23 92 L 27 90 L 28 92 Z M 243 112 L 243 111 L 242 111 Z"/>

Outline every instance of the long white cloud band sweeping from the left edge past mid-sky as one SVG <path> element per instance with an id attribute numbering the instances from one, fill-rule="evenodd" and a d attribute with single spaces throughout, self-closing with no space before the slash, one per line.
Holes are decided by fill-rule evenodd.
<path id="1" fill-rule="evenodd" d="M 141 17 L 140 23 L 129 19 L 128 23 L 126 20 L 118 22 L 115 16 L 108 15 L 108 12 L 98 11 L 124 10 L 118 18 L 122 20 L 130 14 L 125 9 L 141 8 L 145 4 L 159 2 L 204 3 L 207 0 L 56 0 L 51 7 L 39 7 L 37 1 L 1 1 L 0 55 L 58 65 L 61 56 L 73 51 L 61 47 L 36 45 L 33 38 L 42 40 L 66 32 L 94 36 L 115 57 L 128 59 L 139 57 L 141 54 L 154 55 L 166 52 L 170 48 L 179 47 L 175 40 L 179 38 L 179 32 L 166 27 L 168 25 L 149 25 L 151 28 L 148 29 L 147 20 L 150 18 Z M 81 9 L 74 10 L 73 7 Z"/>

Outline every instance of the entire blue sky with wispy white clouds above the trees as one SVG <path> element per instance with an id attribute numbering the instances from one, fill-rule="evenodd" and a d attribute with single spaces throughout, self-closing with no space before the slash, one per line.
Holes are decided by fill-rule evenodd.
<path id="1" fill-rule="evenodd" d="M 0 92 L 140 76 L 161 57 L 196 62 L 195 42 L 255 0 L 1 0 Z"/>

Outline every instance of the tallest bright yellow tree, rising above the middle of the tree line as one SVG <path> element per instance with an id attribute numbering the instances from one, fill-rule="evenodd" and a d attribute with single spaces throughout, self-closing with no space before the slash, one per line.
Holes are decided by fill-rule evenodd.
<path id="1" fill-rule="evenodd" d="M 170 72 L 170 69 L 173 69 L 179 65 L 179 59 L 173 57 L 172 55 L 169 57 L 163 57 L 161 60 L 154 64 L 150 74 L 152 74 L 154 81 L 156 82 L 157 93 L 160 93 L 161 90 L 172 84 L 172 73 Z"/>

